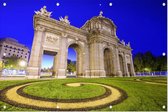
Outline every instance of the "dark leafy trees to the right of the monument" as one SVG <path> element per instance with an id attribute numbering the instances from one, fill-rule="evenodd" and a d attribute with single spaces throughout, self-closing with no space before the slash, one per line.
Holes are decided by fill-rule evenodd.
<path id="1" fill-rule="evenodd" d="M 137 53 L 134 57 L 136 72 L 167 71 L 167 57 L 154 56 L 151 52 Z"/>

